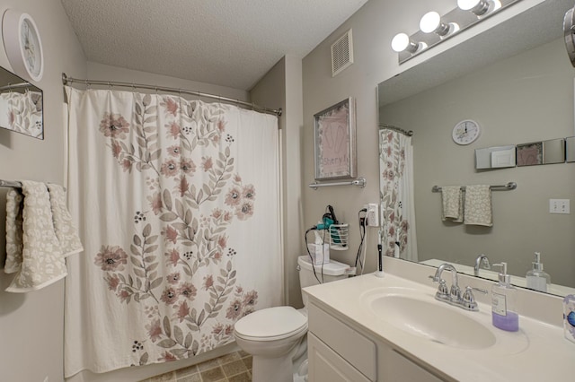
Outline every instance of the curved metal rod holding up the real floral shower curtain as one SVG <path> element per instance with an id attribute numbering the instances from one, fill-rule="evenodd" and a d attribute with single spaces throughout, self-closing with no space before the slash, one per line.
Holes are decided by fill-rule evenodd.
<path id="1" fill-rule="evenodd" d="M 187 91 L 184 89 L 176 89 L 176 88 L 166 88 L 164 86 L 154 86 L 154 85 L 146 85 L 145 83 L 133 83 L 133 82 L 115 82 L 115 81 L 99 81 L 99 80 L 80 80 L 77 78 L 68 77 L 66 73 L 62 74 L 62 83 L 67 85 L 68 83 L 84 83 L 87 85 L 104 85 L 104 86 L 119 86 L 125 88 L 140 88 L 140 89 L 148 89 L 152 91 L 169 91 L 173 93 L 183 93 L 183 94 L 190 94 L 195 95 L 198 97 L 209 98 L 213 100 L 225 100 L 226 102 L 231 102 L 237 105 L 242 105 L 248 109 L 258 110 L 264 112 L 266 114 L 272 114 L 277 117 L 281 117 L 283 110 L 280 109 L 269 109 L 260 105 L 256 105 L 252 102 L 245 102 L 243 100 L 234 100 L 227 97 L 221 97 L 214 94 L 203 93 L 201 91 Z"/>

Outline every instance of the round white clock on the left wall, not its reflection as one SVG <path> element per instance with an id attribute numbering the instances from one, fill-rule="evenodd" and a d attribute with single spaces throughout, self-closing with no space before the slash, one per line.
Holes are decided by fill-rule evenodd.
<path id="1" fill-rule="evenodd" d="M 44 73 L 42 42 L 30 14 L 8 9 L 2 19 L 2 39 L 13 71 L 33 81 Z"/>

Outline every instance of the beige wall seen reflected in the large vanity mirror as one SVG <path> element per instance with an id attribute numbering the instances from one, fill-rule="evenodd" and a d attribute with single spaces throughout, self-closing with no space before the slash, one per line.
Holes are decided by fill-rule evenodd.
<path id="1" fill-rule="evenodd" d="M 506 261 L 525 276 L 535 251 L 553 283 L 575 287 L 575 217 L 549 213 L 549 199 L 575 199 L 572 163 L 475 170 L 474 150 L 573 135 L 575 70 L 557 39 L 381 109 L 381 120 L 414 131 L 415 208 L 420 260 L 473 265 L 479 254 Z M 474 143 L 458 146 L 451 131 L 463 119 L 482 126 Z M 434 185 L 506 184 L 492 193 L 493 227 L 440 221 Z"/>

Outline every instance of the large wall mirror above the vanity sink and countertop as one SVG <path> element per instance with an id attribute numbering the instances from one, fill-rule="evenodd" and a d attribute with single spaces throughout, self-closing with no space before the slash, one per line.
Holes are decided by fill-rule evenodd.
<path id="1" fill-rule="evenodd" d="M 562 37 L 563 15 L 572 6 L 572 1 L 545 1 L 378 85 L 380 129 L 413 131 L 409 150 L 400 154 L 412 147 L 411 195 L 404 195 L 401 209 L 394 211 L 401 221 L 386 226 L 388 215 L 382 226 L 383 235 L 391 235 L 388 256 L 432 266 L 448 262 L 474 274 L 478 257 L 485 255 L 491 264 L 507 262 L 512 282 L 526 286 L 539 252 L 551 275 L 547 291 L 575 292 L 575 205 L 571 213 L 550 213 L 551 200 L 575 202 L 575 164 L 474 166 L 475 149 L 575 135 L 575 69 Z M 481 126 L 481 135 L 473 143 L 456 144 L 452 131 L 466 119 Z M 390 189 L 404 191 L 403 184 L 391 181 L 385 156 L 393 153 L 385 145 L 394 139 L 401 143 L 403 135 L 380 130 L 379 136 L 384 205 Z M 491 190 L 492 226 L 442 220 L 442 193 L 433 192 L 434 186 L 509 182 L 517 188 Z M 402 226 L 409 227 L 409 235 Z M 494 269 L 481 265 L 476 275 L 496 278 Z"/>

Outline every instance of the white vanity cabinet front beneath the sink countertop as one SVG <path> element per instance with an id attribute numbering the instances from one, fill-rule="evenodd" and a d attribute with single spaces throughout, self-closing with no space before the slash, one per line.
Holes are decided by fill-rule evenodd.
<path id="1" fill-rule="evenodd" d="M 310 299 L 309 382 L 438 382 L 429 370 Z"/>

